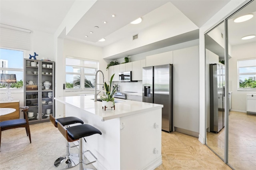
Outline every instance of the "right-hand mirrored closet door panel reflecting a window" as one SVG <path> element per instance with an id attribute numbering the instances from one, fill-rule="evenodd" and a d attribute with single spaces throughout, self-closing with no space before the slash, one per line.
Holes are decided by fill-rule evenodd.
<path id="1" fill-rule="evenodd" d="M 250 170 L 256 168 L 256 111 L 247 109 L 247 96 L 253 99 L 254 94 L 256 99 L 256 1 L 233 14 L 227 22 L 228 54 L 231 56 L 228 59 L 228 89 L 232 92 L 227 162 L 236 170 Z"/>

